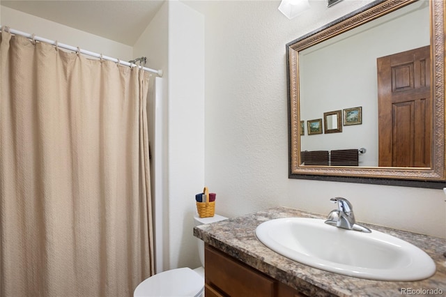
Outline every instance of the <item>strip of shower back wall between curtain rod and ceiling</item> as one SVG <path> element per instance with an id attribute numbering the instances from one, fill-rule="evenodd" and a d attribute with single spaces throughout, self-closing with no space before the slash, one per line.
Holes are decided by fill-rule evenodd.
<path id="1" fill-rule="evenodd" d="M 59 43 L 80 47 L 83 50 L 102 53 L 123 61 L 132 59 L 133 48 L 128 45 L 22 13 L 6 6 L 1 6 L 1 22 L 3 22 L 2 26 L 9 26 L 30 34 L 35 33 L 36 36 L 57 40 Z"/>

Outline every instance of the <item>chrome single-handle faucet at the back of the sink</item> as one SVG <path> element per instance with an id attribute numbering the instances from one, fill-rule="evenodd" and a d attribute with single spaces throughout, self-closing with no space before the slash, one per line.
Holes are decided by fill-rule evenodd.
<path id="1" fill-rule="evenodd" d="M 331 224 L 332 226 L 342 229 L 371 233 L 369 228 L 356 224 L 353 206 L 351 206 L 350 201 L 341 197 L 332 198 L 330 201 L 337 203 L 338 209 L 335 209 L 328 214 L 325 224 Z"/>

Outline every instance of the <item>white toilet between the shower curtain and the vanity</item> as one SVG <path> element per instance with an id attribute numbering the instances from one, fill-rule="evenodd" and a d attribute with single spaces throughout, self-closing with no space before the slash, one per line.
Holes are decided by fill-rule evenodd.
<path id="1" fill-rule="evenodd" d="M 226 219 L 222 215 L 214 215 L 212 218 L 200 218 L 197 213 L 194 215 L 195 226 Z M 204 242 L 198 238 L 197 241 L 201 267 L 194 270 L 187 267 L 177 268 L 148 277 L 134 289 L 133 296 L 201 296 L 204 289 Z"/>

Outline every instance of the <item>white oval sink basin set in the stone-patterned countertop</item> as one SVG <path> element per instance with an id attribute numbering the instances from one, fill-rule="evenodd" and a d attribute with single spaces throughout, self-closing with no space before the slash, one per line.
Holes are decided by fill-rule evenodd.
<path id="1" fill-rule="evenodd" d="M 369 280 L 415 281 L 436 266 L 426 252 L 394 236 L 330 226 L 312 218 L 281 218 L 256 229 L 259 241 L 282 256 L 332 273 Z"/>

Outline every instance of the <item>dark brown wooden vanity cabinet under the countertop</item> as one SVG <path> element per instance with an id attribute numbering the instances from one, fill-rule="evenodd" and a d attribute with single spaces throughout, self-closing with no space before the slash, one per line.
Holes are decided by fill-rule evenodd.
<path id="1" fill-rule="evenodd" d="M 205 297 L 305 296 L 207 244 L 204 259 Z"/>

